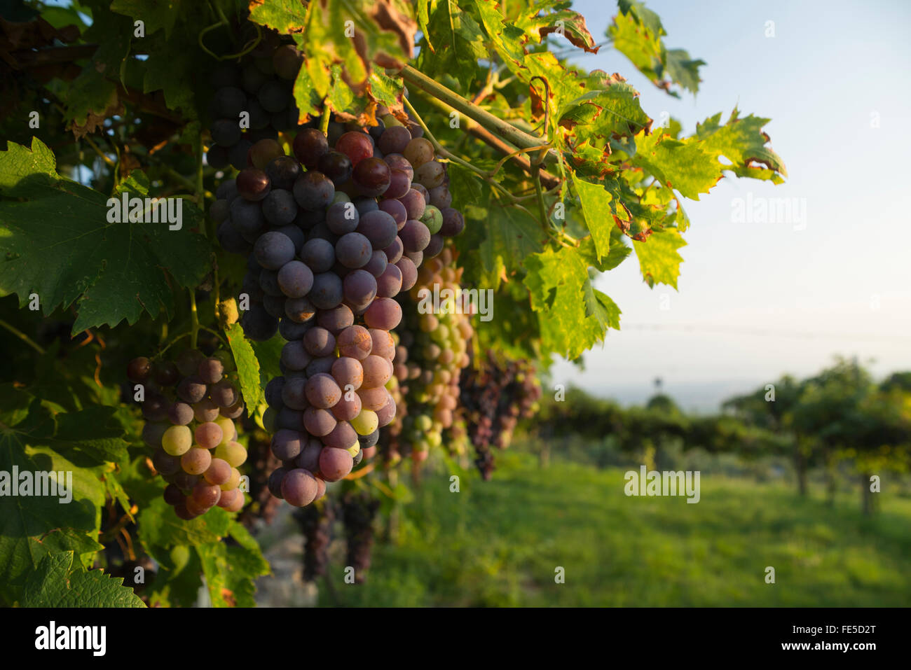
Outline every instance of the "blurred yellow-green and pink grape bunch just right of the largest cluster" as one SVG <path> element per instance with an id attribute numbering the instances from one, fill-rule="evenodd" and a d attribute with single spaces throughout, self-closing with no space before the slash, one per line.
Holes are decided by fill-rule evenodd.
<path id="1" fill-rule="evenodd" d="M 399 333 L 394 373 L 408 407 L 401 434 L 417 462 L 440 446 L 443 432 L 457 423 L 459 379 L 468 365 L 467 347 L 474 335 L 459 285 L 463 270 L 455 267 L 455 256 L 453 249 L 445 248 L 420 269 L 411 294 L 400 298 L 409 316 Z M 419 313 L 416 303 L 427 295 L 425 291 L 440 296 L 449 292 L 450 298 L 442 301 L 436 313 Z M 394 442 L 399 451 L 400 441 Z"/>

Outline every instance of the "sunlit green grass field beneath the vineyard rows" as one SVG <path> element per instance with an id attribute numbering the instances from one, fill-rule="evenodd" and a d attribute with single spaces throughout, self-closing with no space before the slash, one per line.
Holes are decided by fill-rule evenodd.
<path id="1" fill-rule="evenodd" d="M 911 604 L 911 500 L 882 493 L 865 519 L 859 494 L 830 507 L 783 484 L 710 476 L 697 504 L 628 498 L 625 470 L 497 457 L 491 482 L 466 476 L 458 493 L 427 476 L 399 543 L 375 546 L 366 584 L 336 586 L 334 598 L 321 588 L 320 604 Z M 343 584 L 342 566 L 332 569 Z"/>

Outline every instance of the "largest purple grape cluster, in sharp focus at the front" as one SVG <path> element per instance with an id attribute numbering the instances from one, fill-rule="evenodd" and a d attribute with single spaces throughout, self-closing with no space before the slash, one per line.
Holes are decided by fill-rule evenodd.
<path id="1" fill-rule="evenodd" d="M 333 147 L 314 127 L 293 138 L 293 156 L 264 162 L 252 147 L 254 167 L 223 182 L 210 209 L 222 246 L 251 251 L 247 337 L 287 340 L 263 425 L 282 462 L 269 490 L 298 507 L 347 476 L 394 419 L 394 298 L 465 226 L 423 137 L 392 116 L 370 132 L 329 129 Z"/>

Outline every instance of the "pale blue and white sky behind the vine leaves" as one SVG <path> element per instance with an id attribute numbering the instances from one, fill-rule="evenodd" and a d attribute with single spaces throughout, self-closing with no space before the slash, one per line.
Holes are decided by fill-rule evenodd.
<path id="1" fill-rule="evenodd" d="M 789 177 L 777 187 L 724 178 L 684 200 L 678 290 L 649 289 L 635 256 L 603 274 L 596 285 L 622 310 L 621 330 L 585 354 L 584 371 L 558 362 L 553 382 L 640 402 L 660 378 L 685 408 L 710 411 L 836 354 L 877 376 L 911 370 L 911 2 L 646 5 L 666 46 L 706 61 L 696 96 L 667 96 L 608 46 L 576 63 L 619 72 L 656 125 L 670 114 L 685 135 L 733 107 L 771 118 L 764 129 Z M 603 41 L 616 5 L 573 8 Z M 738 203 L 762 198 L 793 198 L 793 215 L 735 222 Z"/>

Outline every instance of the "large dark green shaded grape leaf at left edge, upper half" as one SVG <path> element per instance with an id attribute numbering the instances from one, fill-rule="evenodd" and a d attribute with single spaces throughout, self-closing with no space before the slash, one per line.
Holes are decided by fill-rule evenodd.
<path id="1" fill-rule="evenodd" d="M 117 198 L 148 193 L 138 171 L 121 186 Z M 170 316 L 169 277 L 194 288 L 209 269 L 209 244 L 190 231 L 201 220 L 197 208 L 183 203 L 179 230 L 108 223 L 107 198 L 60 177 L 37 137 L 31 149 L 9 143 L 0 152 L 0 195 L 0 291 L 16 293 L 20 305 L 35 293 L 45 314 L 78 300 L 74 333 L 124 319 L 132 324 L 144 311 L 157 317 L 164 309 Z"/>

